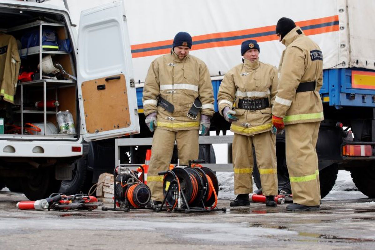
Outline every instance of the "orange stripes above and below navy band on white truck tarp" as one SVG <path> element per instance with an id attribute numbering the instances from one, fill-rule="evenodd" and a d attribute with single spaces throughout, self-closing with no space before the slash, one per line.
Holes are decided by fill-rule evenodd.
<path id="1" fill-rule="evenodd" d="M 338 20 L 339 20 L 338 15 L 335 15 L 332 17 L 324 17 L 324 18 L 317 18 L 317 19 L 306 20 L 306 21 L 299 21 L 296 23 L 296 25 L 300 26 L 303 29 L 303 27 L 305 26 L 324 24 L 324 23 L 334 22 Z M 263 33 L 263 32 L 272 32 L 275 29 L 276 29 L 276 26 L 266 26 L 266 27 L 259 27 L 259 28 L 254 28 L 254 29 L 231 31 L 231 32 L 211 33 L 211 34 L 206 34 L 206 35 L 193 36 L 193 41 L 202 41 L 206 39 L 216 39 L 216 38 L 230 38 L 230 37 L 235 37 L 235 36 L 251 35 L 251 34 Z M 336 24 L 332 26 L 304 30 L 304 33 L 305 35 L 317 35 L 321 33 L 334 32 L 338 30 L 339 30 L 339 25 Z M 246 41 L 248 39 L 249 38 L 235 39 L 235 40 L 230 40 L 230 41 L 207 42 L 204 44 L 194 44 L 192 47 L 192 50 L 201 50 L 205 48 L 240 45 L 243 41 Z M 251 39 L 257 40 L 257 42 L 267 42 L 267 41 L 278 40 L 279 38 L 275 34 L 275 35 L 253 37 Z M 173 40 L 166 40 L 166 41 L 151 42 L 151 43 L 146 43 L 146 44 L 136 44 L 136 45 L 131 45 L 131 49 L 138 50 L 138 49 L 143 49 L 143 48 L 166 46 L 166 45 L 171 45 L 172 42 Z M 154 56 L 154 55 L 159 55 L 159 54 L 167 54 L 170 52 L 170 50 L 171 48 L 163 48 L 160 50 L 136 52 L 136 53 L 132 53 L 132 57 L 137 58 L 137 57 L 145 57 L 145 56 Z"/>

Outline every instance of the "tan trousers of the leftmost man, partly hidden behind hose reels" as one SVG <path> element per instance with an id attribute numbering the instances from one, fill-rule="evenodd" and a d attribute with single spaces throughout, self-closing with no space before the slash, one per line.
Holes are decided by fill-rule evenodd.
<path id="1" fill-rule="evenodd" d="M 176 140 L 181 165 L 187 165 L 189 160 L 198 159 L 198 133 L 199 130 L 169 131 L 156 128 L 152 139 L 147 176 L 147 185 L 150 187 L 152 200 L 163 201 L 163 176 L 157 173 L 169 169 Z"/>

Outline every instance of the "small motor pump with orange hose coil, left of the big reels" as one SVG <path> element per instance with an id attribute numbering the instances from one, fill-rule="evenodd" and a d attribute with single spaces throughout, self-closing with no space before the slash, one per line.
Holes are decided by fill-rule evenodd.
<path id="1" fill-rule="evenodd" d="M 115 167 L 113 172 L 114 185 L 114 207 L 102 207 L 103 211 L 124 211 L 130 209 L 145 208 L 151 199 L 151 190 L 144 184 L 144 168 L 142 165 L 134 165 L 141 169 L 140 176 L 138 171 L 130 170 L 129 167 Z"/>

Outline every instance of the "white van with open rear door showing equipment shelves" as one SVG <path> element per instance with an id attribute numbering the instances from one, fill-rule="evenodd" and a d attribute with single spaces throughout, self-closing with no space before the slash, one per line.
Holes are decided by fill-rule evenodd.
<path id="1" fill-rule="evenodd" d="M 0 0 L 0 183 L 30 200 L 72 178 L 86 142 L 139 133 L 123 2 L 82 12 L 78 34 L 64 8 Z M 4 98 L 12 84 L 13 102 Z M 66 110 L 73 121 L 57 119 Z"/>

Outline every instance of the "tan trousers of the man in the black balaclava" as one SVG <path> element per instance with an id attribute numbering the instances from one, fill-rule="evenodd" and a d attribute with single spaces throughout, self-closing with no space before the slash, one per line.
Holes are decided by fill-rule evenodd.
<path id="1" fill-rule="evenodd" d="M 293 202 L 317 206 L 320 202 L 318 155 L 315 149 L 320 122 L 285 126 L 285 150 Z"/>

